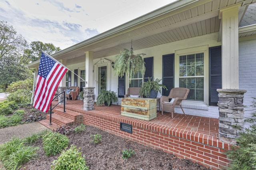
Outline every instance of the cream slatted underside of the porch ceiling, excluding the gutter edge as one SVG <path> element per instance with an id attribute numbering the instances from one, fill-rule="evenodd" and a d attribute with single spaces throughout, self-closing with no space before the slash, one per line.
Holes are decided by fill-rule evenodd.
<path id="1" fill-rule="evenodd" d="M 56 59 L 64 59 L 68 64 L 75 64 L 85 61 L 85 51 L 94 52 L 94 59 L 119 54 L 124 48 L 130 49 L 131 40 L 133 49 L 138 50 L 219 32 L 219 9 L 242 1 L 213 0 L 179 13 L 170 12 L 169 16 L 166 15 L 160 20 L 148 21 L 148 24 L 142 23 L 135 28 L 122 30 L 111 38 L 78 47 L 76 50 L 56 56 Z M 252 0 L 249 1 L 252 2 Z"/>

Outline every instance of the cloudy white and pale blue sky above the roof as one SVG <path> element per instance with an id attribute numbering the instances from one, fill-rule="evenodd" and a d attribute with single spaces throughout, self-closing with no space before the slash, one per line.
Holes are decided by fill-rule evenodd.
<path id="1" fill-rule="evenodd" d="M 0 20 L 28 43 L 62 50 L 175 0 L 0 0 Z"/>

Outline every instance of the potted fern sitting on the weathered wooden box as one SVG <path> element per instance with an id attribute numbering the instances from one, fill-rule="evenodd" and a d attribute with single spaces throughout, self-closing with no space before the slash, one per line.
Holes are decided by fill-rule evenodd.
<path id="1" fill-rule="evenodd" d="M 161 80 L 162 79 L 158 79 L 158 78 L 154 79 L 154 77 L 148 78 L 148 81 L 144 82 L 142 84 L 142 87 L 140 88 L 140 96 L 146 96 L 148 98 L 156 98 L 157 93 L 158 92 L 161 93 L 161 88 L 168 90 L 165 85 L 159 84 Z"/>

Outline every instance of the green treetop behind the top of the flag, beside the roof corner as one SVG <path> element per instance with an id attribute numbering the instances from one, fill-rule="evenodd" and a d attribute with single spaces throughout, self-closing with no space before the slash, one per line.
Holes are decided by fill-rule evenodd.
<path id="1" fill-rule="evenodd" d="M 60 47 L 55 47 L 52 43 L 33 41 L 30 43 L 30 48 L 24 50 L 24 58 L 28 58 L 30 62 L 40 60 L 42 51 L 51 55 L 60 51 Z"/>

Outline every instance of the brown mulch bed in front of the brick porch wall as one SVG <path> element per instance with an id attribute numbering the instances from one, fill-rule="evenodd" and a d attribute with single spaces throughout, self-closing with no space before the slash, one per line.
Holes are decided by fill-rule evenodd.
<path id="1" fill-rule="evenodd" d="M 90 134 L 101 134 L 102 142 L 90 142 Z M 78 134 L 72 132 L 71 128 L 68 137 L 70 145 L 74 144 L 85 155 L 90 170 L 210 170 L 191 160 L 180 159 L 173 154 L 126 140 L 93 126 L 86 126 L 86 130 Z M 52 162 L 60 156 L 57 154 L 47 157 L 42 149 L 42 141 L 36 146 L 40 146 L 38 159 L 28 162 L 20 170 L 50 170 Z M 135 154 L 122 159 L 124 149 L 135 150 Z"/>

